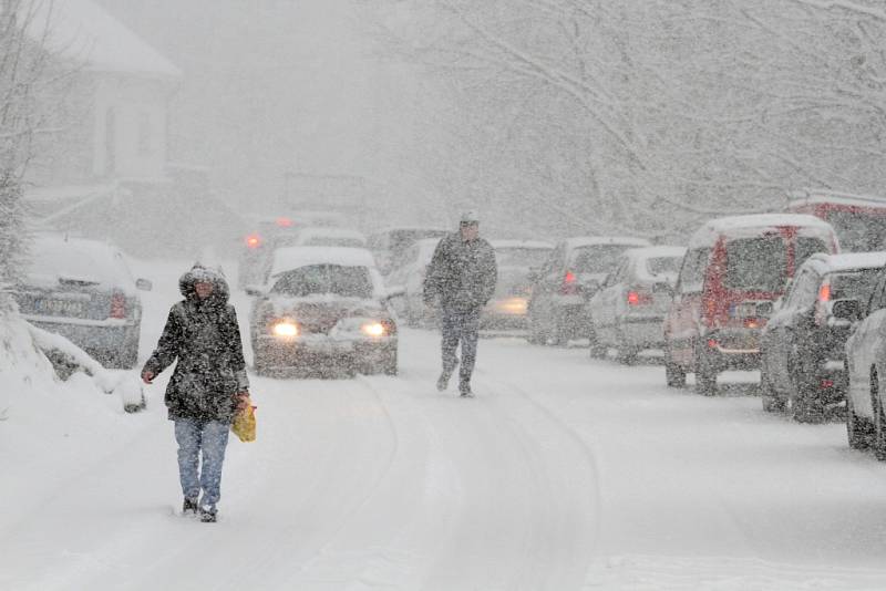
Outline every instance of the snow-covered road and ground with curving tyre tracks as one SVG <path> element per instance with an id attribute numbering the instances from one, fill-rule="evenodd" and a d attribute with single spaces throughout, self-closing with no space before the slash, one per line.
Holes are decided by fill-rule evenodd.
<path id="1" fill-rule="evenodd" d="M 141 273 L 143 357 L 185 267 Z M 740 374 L 704 398 L 518 339 L 481 342 L 459 400 L 436 346 L 404 331 L 396 379 L 253 377 L 215 525 L 174 515 L 168 373 L 137 415 L 83 384 L 8 394 L 0 589 L 886 588 L 886 466 L 843 425 L 769 416 Z"/>

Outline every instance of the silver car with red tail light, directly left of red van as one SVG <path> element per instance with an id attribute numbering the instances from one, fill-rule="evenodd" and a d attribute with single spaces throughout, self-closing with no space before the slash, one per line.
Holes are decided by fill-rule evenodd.
<path id="1" fill-rule="evenodd" d="M 588 302 L 590 353 L 608 348 L 622 363 L 647 349 L 664 344 L 664 314 L 671 302 L 684 247 L 655 246 L 627 250 L 616 270 Z"/>

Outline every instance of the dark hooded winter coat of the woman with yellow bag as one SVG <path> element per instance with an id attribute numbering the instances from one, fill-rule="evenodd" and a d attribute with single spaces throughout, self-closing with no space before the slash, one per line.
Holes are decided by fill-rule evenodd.
<path id="1" fill-rule="evenodd" d="M 205 300 L 194 291 L 197 279 L 214 286 Z M 227 281 L 220 272 L 195 266 L 178 280 L 178 289 L 185 299 L 169 310 L 157 349 L 142 372 L 157 375 L 177 360 L 166 387 L 169 419 L 231 423 L 235 394 L 247 391 L 249 381 Z"/>

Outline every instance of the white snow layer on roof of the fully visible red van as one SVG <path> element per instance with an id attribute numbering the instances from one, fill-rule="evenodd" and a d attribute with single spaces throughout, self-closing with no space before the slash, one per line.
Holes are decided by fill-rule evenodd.
<path id="1" fill-rule="evenodd" d="M 826 221 L 805 214 L 755 214 L 712 219 L 689 239 L 689 248 L 712 248 L 721 237 L 748 238 L 767 230 L 797 228 L 801 236 L 813 236 L 836 243 L 834 228 Z"/>

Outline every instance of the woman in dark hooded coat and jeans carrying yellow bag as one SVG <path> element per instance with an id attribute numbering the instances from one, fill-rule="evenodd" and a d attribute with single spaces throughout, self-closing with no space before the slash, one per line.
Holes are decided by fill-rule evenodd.
<path id="1" fill-rule="evenodd" d="M 214 522 L 228 433 L 236 412 L 248 404 L 249 381 L 222 271 L 197 263 L 178 280 L 178 289 L 185 299 L 169 310 L 142 380 L 151 384 L 178 360 L 165 402 L 178 443 L 182 510 Z"/>

